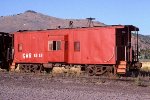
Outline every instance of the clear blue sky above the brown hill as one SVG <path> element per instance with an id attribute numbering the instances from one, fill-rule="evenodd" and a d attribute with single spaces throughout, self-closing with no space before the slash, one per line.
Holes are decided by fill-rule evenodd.
<path id="1" fill-rule="evenodd" d="M 59 18 L 94 17 L 108 25 L 132 24 L 150 35 L 150 0 L 1 0 L 0 16 L 34 10 Z"/>

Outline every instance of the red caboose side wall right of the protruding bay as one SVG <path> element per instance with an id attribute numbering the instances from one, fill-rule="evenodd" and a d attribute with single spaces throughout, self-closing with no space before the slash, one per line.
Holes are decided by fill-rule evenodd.
<path id="1" fill-rule="evenodd" d="M 70 63 L 115 64 L 115 30 L 112 28 L 80 29 L 73 32 L 74 50 Z"/>

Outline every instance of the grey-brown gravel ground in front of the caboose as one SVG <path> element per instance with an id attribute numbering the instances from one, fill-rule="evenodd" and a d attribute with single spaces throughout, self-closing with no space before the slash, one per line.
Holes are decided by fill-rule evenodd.
<path id="1" fill-rule="evenodd" d="M 0 72 L 0 100 L 150 100 L 134 81 Z"/>

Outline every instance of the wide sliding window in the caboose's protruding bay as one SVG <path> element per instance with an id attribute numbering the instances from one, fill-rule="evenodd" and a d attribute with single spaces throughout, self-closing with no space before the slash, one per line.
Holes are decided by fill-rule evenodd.
<path id="1" fill-rule="evenodd" d="M 49 51 L 61 50 L 61 41 L 48 41 Z"/>

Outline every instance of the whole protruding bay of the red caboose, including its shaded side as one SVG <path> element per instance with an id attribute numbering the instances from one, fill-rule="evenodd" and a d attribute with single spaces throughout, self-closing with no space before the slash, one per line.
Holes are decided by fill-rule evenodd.
<path id="1" fill-rule="evenodd" d="M 68 30 L 48 30 L 47 61 L 63 63 L 68 60 Z"/>

